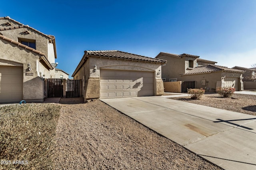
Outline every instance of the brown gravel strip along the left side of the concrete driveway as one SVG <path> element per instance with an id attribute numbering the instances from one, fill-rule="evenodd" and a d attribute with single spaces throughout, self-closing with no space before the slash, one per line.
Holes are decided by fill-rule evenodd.
<path id="1" fill-rule="evenodd" d="M 53 154 L 55 168 L 220 169 L 100 100 L 62 99 Z"/>

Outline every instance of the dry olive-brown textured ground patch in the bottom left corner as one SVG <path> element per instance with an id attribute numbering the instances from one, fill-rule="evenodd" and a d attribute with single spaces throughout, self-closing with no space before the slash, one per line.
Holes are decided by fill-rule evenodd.
<path id="1" fill-rule="evenodd" d="M 0 107 L 0 169 L 53 169 L 51 154 L 59 115 L 56 104 Z"/>

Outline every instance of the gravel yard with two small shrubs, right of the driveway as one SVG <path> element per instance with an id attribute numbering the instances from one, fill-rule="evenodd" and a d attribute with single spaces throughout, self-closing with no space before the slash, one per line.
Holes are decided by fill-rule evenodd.
<path id="1" fill-rule="evenodd" d="M 233 94 L 232 98 L 223 98 L 219 94 L 204 94 L 200 100 L 192 100 L 189 96 L 170 99 L 256 115 L 256 95 Z"/>

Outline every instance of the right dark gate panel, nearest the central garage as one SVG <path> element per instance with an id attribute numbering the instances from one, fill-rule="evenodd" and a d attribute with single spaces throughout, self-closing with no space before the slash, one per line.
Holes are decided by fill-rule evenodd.
<path id="1" fill-rule="evenodd" d="M 66 80 L 66 98 L 80 97 L 80 80 Z"/>

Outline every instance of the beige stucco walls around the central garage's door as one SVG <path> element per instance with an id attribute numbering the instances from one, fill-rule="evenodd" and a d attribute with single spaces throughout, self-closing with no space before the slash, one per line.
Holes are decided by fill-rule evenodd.
<path id="1" fill-rule="evenodd" d="M 94 72 L 94 66 L 97 66 Z M 135 71 L 152 71 L 154 72 L 154 95 L 162 95 L 164 93 L 161 74 L 161 64 L 149 63 L 144 61 L 130 61 L 124 59 L 113 59 L 106 57 L 89 57 L 86 63 L 74 75 L 74 79 L 85 79 L 83 89 L 84 98 L 99 98 L 100 91 L 100 69 L 114 70 L 135 70 Z M 84 77 L 85 75 L 85 77 Z"/>

